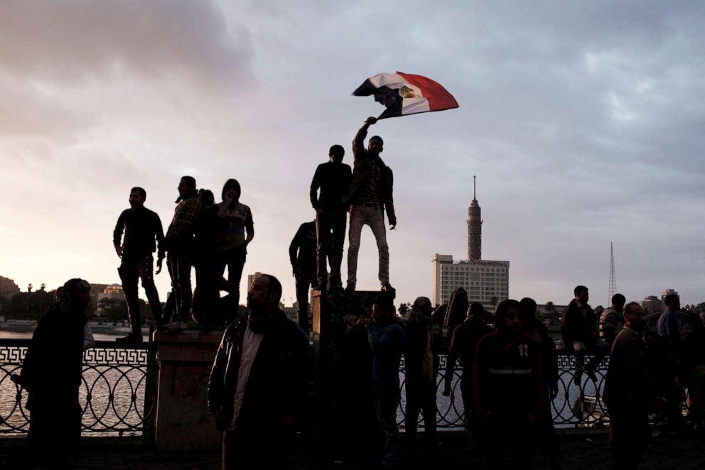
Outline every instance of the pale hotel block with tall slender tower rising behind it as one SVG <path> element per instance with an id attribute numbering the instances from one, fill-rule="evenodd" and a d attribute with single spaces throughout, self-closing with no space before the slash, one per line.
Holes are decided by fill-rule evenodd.
<path id="1" fill-rule="evenodd" d="M 509 261 L 482 259 L 482 223 L 473 176 L 473 201 L 468 207 L 468 261 L 434 254 L 434 304 L 448 302 L 456 288 L 467 290 L 470 302 L 481 302 L 487 308 L 509 298 Z"/>

